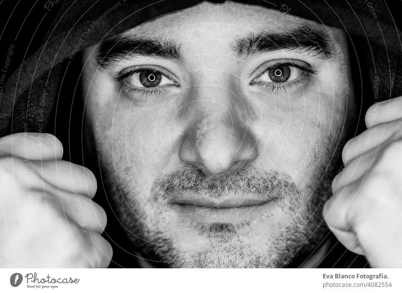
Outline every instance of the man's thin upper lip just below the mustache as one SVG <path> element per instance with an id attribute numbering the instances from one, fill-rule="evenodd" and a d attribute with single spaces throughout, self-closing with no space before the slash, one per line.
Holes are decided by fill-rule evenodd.
<path id="1" fill-rule="evenodd" d="M 266 203 L 272 200 L 272 198 L 244 198 L 244 197 L 236 197 L 236 198 L 211 198 L 211 197 L 191 197 L 191 198 L 174 198 L 172 203 L 178 204 L 191 204 L 197 206 L 205 206 L 205 207 L 216 207 L 216 208 L 234 208 L 246 205 L 258 205 L 262 203 Z"/>

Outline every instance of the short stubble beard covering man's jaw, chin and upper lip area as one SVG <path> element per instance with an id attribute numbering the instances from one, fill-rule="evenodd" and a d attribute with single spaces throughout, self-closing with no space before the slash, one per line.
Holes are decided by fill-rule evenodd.
<path id="1" fill-rule="evenodd" d="M 113 170 L 113 174 L 108 174 L 109 172 L 106 171 L 104 178 L 106 178 L 109 189 L 109 198 L 112 199 L 113 208 L 120 219 L 123 231 L 133 243 L 132 253 L 139 253 L 151 265 L 176 268 L 277 268 L 293 267 L 302 263 L 329 234 L 322 217 L 322 207 L 325 203 L 323 194 L 324 191 L 330 190 L 329 186 L 335 175 L 335 169 L 328 168 L 325 174 L 314 176 L 313 182 L 306 184 L 304 193 L 300 192 L 294 183 L 281 181 L 279 188 L 282 188 L 283 195 L 277 199 L 275 205 L 279 206 L 283 212 L 288 213 L 293 221 L 276 235 L 271 236 L 262 246 L 254 245 L 248 237 L 252 235 L 253 225 L 258 224 L 258 221 L 239 224 L 189 224 L 198 236 L 205 239 L 202 247 L 198 246 L 197 251 L 186 249 L 188 246 L 177 245 L 176 239 L 166 233 L 165 229 L 168 226 L 165 226 L 163 216 L 160 214 L 163 215 L 164 211 L 167 212 L 169 207 L 158 192 L 164 190 L 164 194 L 166 194 L 166 190 L 172 188 L 168 182 L 175 182 L 176 191 L 177 185 L 183 187 L 184 191 L 189 191 L 194 188 L 194 182 L 198 182 L 198 190 L 199 188 L 207 189 L 205 193 L 208 194 L 217 191 L 208 189 L 222 186 L 220 185 L 221 180 L 211 184 L 211 180 L 214 181 L 214 179 L 202 177 L 202 172 L 197 169 L 181 170 L 169 174 L 167 177 L 159 178 L 154 182 L 153 191 L 151 190 L 151 193 L 154 194 L 150 200 L 153 202 L 155 210 L 159 212 L 147 214 L 143 202 L 138 200 L 140 195 L 133 192 L 137 188 L 133 186 L 131 177 L 122 176 L 117 184 L 116 178 L 112 180 L 113 176 L 111 176 L 115 175 L 114 170 L 106 168 L 106 170 Z M 225 180 L 229 180 L 229 182 L 223 185 L 223 188 L 230 190 L 231 186 L 239 186 L 242 182 L 244 183 L 244 176 L 250 178 L 250 174 L 247 172 L 252 169 L 247 170 L 242 170 L 240 175 L 237 173 L 236 177 L 232 177 L 232 179 L 226 178 Z M 281 180 L 276 172 L 261 173 L 256 170 L 253 172 L 258 174 L 255 178 L 265 176 L 265 180 L 268 181 Z M 191 184 L 188 184 L 189 181 L 192 181 Z M 234 184 L 234 182 L 238 184 Z M 259 182 L 261 181 L 257 180 L 255 183 Z M 265 191 L 262 188 L 259 192 L 269 192 L 270 189 L 272 191 L 272 185 Z M 310 194 L 307 199 L 306 194 Z"/>

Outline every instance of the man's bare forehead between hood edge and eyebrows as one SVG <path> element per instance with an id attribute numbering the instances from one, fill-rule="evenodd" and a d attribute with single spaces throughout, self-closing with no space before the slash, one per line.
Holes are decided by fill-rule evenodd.
<path id="1" fill-rule="evenodd" d="M 124 35 L 170 38 L 176 42 L 213 40 L 230 42 L 250 33 L 286 33 L 295 29 L 326 32 L 324 25 L 261 6 L 233 2 L 204 2 L 191 8 L 153 19 L 126 31 Z M 337 33 L 338 30 L 334 30 Z M 200 46 L 198 49 L 201 49 Z"/>

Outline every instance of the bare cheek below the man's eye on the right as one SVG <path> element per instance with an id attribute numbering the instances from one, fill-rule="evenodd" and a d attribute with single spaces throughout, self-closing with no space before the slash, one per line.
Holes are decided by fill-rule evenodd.
<path id="1" fill-rule="evenodd" d="M 340 92 L 311 92 L 302 98 L 287 99 L 287 103 L 276 101 L 273 119 L 264 119 L 265 134 L 259 150 L 261 167 L 279 168 L 297 183 L 304 180 L 313 163 L 326 164 L 332 157 L 329 153 L 334 152 L 329 144 L 337 144 L 333 140 L 339 138 L 342 129 L 344 100 Z"/>

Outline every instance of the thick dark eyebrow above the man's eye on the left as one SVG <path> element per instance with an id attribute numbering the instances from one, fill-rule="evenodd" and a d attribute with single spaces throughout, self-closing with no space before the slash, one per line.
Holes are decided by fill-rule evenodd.
<path id="1" fill-rule="evenodd" d="M 100 43 L 96 60 L 100 66 L 109 67 L 134 55 L 172 60 L 181 58 L 180 46 L 173 41 L 148 37 L 115 36 Z"/>

